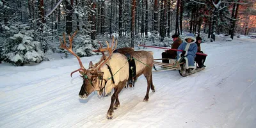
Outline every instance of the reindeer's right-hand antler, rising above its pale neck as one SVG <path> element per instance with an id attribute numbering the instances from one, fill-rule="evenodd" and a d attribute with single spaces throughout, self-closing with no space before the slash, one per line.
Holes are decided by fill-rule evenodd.
<path id="1" fill-rule="evenodd" d="M 111 55 L 112 55 L 113 51 L 115 51 L 116 45 L 117 45 L 117 40 L 116 40 L 115 48 L 113 49 L 114 41 L 115 41 L 115 38 L 114 38 L 114 36 L 113 36 L 111 47 L 109 47 L 108 41 L 106 41 L 106 43 L 107 43 L 107 45 L 108 45 L 107 48 L 104 48 L 104 49 L 103 49 L 103 48 L 102 48 L 102 45 L 100 44 L 100 49 L 94 51 L 94 52 L 102 52 L 102 54 L 103 54 L 103 56 L 102 56 L 102 58 L 100 59 L 99 63 L 97 63 L 97 65 L 95 66 L 95 67 L 97 67 L 97 66 L 100 64 L 100 66 L 97 67 L 98 70 L 111 58 Z M 106 58 L 105 60 L 104 60 L 104 57 L 105 57 L 104 51 L 108 51 L 108 52 L 109 52 L 109 56 L 108 56 L 108 58 Z M 104 61 L 103 61 L 103 60 L 104 60 Z M 101 63 L 101 61 L 103 61 L 103 62 Z"/>

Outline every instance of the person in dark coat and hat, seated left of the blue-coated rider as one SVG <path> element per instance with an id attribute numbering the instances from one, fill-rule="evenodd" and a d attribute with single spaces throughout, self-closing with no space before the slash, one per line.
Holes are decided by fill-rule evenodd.
<path id="1" fill-rule="evenodd" d="M 182 41 L 179 38 L 179 35 L 175 34 L 172 35 L 172 49 L 178 49 L 179 45 L 182 43 Z M 162 52 L 162 58 L 170 58 L 175 59 L 177 56 L 177 51 L 172 50 L 166 50 L 165 52 Z M 169 60 L 162 60 L 163 63 L 169 63 Z"/>

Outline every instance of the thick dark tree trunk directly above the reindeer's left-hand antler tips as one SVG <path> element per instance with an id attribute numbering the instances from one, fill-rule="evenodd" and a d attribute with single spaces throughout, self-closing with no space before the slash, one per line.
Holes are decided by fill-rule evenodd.
<path id="1" fill-rule="evenodd" d="M 67 15 L 66 15 L 66 33 L 70 35 L 72 31 L 72 14 L 73 14 L 73 5 L 74 0 L 70 0 L 70 3 L 68 1 L 65 1 L 66 8 L 67 8 Z"/>

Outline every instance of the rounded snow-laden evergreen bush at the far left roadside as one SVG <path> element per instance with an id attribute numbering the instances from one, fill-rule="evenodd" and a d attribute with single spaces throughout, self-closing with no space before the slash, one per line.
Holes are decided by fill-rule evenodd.
<path id="1" fill-rule="evenodd" d="M 40 42 L 33 41 L 31 36 L 22 33 L 7 38 L 3 45 L 3 60 L 15 66 L 28 63 L 40 63 L 44 54 L 40 49 Z"/>

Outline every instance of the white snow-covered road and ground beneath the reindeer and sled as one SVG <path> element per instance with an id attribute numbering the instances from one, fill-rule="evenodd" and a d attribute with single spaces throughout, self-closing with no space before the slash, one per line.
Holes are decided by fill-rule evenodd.
<path id="1" fill-rule="evenodd" d="M 0 127 L 246 127 L 256 125 L 256 44 L 253 39 L 206 42 L 205 70 L 182 77 L 176 70 L 153 72 L 156 92 L 145 77 L 119 94 L 120 108 L 106 119 L 111 97 L 79 99 L 83 81 L 72 56 L 14 67 L 0 64 Z M 153 51 L 160 58 L 164 49 Z M 254 58 L 254 59 L 253 59 Z M 100 56 L 81 58 L 84 67 Z"/>

